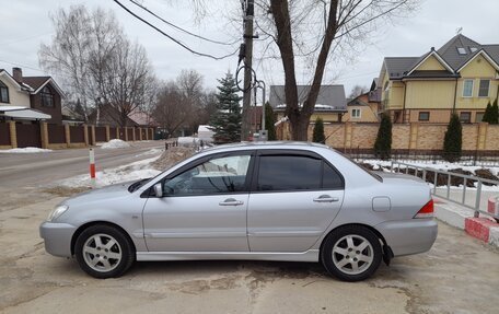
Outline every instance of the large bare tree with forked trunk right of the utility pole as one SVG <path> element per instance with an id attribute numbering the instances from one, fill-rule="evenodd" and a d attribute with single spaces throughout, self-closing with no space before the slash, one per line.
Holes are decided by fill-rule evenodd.
<path id="1" fill-rule="evenodd" d="M 417 0 L 269 0 L 257 7 L 264 12 L 285 70 L 286 115 L 294 140 L 306 140 L 310 117 L 314 112 L 325 68 L 330 56 L 351 51 L 381 22 L 395 13 L 411 10 Z M 270 15 L 268 15 L 270 13 Z M 267 19 L 267 20 L 265 20 Z M 313 30 L 313 32 L 311 32 Z M 311 88 L 303 106 L 299 106 L 295 59 L 305 57 L 311 69 Z"/>

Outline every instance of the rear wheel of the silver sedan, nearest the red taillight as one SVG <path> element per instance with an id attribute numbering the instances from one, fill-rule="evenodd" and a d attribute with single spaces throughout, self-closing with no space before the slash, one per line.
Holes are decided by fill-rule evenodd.
<path id="1" fill-rule="evenodd" d="M 380 267 L 381 259 L 380 240 L 362 225 L 334 230 L 321 249 L 321 260 L 326 270 L 344 281 L 361 281 L 371 277 Z"/>

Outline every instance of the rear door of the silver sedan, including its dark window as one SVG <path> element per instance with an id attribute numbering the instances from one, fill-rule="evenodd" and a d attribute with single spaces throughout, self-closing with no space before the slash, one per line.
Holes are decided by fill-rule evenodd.
<path id="1" fill-rule="evenodd" d="M 341 208 L 343 176 L 307 151 L 260 150 L 247 212 L 252 252 L 305 252 Z"/>

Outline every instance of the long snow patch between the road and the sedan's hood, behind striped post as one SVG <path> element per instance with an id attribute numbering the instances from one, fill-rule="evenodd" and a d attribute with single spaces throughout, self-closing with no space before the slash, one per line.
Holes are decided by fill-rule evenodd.
<path id="1" fill-rule="evenodd" d="M 156 176 L 160 171 L 153 170 L 150 166 L 150 163 L 153 162 L 155 158 L 141 160 L 134 162 L 127 165 L 123 165 L 115 168 L 108 168 L 104 171 L 98 171 L 95 173 L 95 184 L 97 187 L 106 186 L 109 184 L 116 184 L 128 181 L 137 181 L 147 177 Z M 98 165 L 97 165 L 98 167 Z M 56 183 L 58 186 L 65 187 L 84 187 L 91 186 L 92 182 L 89 174 L 82 174 L 73 176 L 67 179 L 62 179 Z"/>

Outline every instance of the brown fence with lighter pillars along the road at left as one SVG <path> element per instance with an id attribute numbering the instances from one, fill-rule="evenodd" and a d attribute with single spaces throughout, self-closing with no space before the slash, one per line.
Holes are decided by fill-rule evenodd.
<path id="1" fill-rule="evenodd" d="M 0 123 L 0 149 L 37 147 L 44 149 L 63 149 L 95 146 L 112 139 L 125 141 L 152 140 L 153 128 L 109 127 L 109 126 L 70 126 L 47 123 L 23 124 L 15 121 Z"/>

